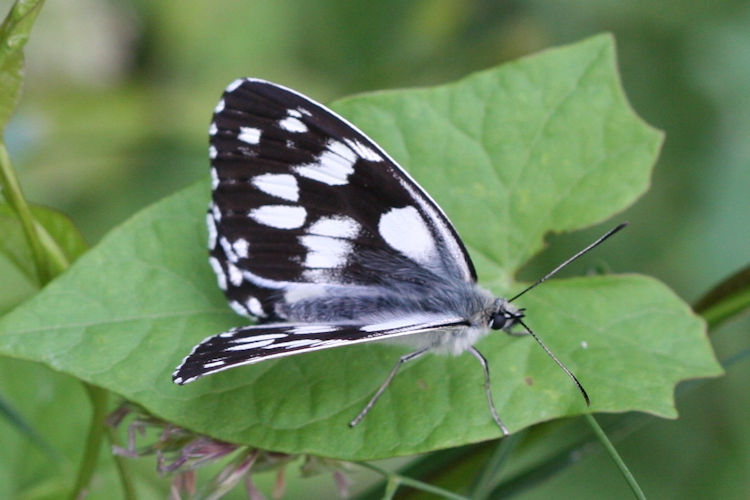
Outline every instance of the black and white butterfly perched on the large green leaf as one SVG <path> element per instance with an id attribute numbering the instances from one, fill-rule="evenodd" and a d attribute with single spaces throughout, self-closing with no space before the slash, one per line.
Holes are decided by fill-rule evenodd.
<path id="1" fill-rule="evenodd" d="M 209 263 L 231 308 L 257 324 L 211 336 L 172 375 L 177 384 L 237 366 L 332 347 L 405 338 L 370 411 L 404 363 L 468 352 L 492 330 L 533 336 L 512 302 L 601 243 L 605 234 L 512 299 L 477 284 L 445 213 L 372 139 L 325 106 L 283 86 L 232 82 L 209 127 Z M 514 330 L 520 328 L 520 331 Z"/>

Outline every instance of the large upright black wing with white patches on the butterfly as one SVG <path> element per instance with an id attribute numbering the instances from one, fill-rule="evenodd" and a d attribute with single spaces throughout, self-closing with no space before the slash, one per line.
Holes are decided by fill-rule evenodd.
<path id="1" fill-rule="evenodd" d="M 324 106 L 269 82 L 236 80 L 209 135 L 210 263 L 236 312 L 295 321 L 285 301 L 321 290 L 424 284 L 428 276 L 476 281 L 442 210 Z"/>

